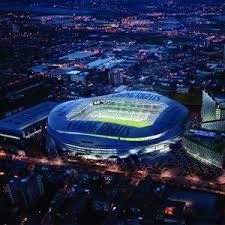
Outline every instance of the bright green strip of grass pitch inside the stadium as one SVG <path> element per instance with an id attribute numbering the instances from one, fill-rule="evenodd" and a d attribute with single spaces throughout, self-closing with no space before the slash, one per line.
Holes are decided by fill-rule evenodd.
<path id="1" fill-rule="evenodd" d="M 104 123 L 114 123 L 119 125 L 137 127 L 137 128 L 143 128 L 143 127 L 147 127 L 151 125 L 149 121 L 133 121 L 133 120 L 106 118 L 106 117 L 97 117 L 96 121 L 104 122 Z"/>

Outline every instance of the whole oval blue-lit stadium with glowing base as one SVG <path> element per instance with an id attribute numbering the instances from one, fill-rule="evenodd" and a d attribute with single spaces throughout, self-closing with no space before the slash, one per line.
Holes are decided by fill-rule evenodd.
<path id="1" fill-rule="evenodd" d="M 151 92 L 72 100 L 48 117 L 47 148 L 89 158 L 163 153 L 183 133 L 188 111 Z"/>

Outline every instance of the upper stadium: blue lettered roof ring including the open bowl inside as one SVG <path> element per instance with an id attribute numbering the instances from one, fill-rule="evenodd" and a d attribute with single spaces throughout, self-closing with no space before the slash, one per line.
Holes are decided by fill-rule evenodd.
<path id="1" fill-rule="evenodd" d="M 65 102 L 51 112 L 58 133 L 142 141 L 183 124 L 187 109 L 157 93 L 128 91 Z"/>

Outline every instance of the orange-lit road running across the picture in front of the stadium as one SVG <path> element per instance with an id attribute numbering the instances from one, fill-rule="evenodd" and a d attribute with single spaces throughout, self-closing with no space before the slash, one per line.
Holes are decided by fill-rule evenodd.
<path id="1" fill-rule="evenodd" d="M 141 180 L 145 177 L 150 176 L 153 180 L 163 183 L 168 183 L 172 185 L 180 185 L 186 188 L 207 191 L 211 193 L 217 193 L 225 195 L 225 171 L 222 176 L 218 177 L 214 181 L 203 180 L 202 178 L 196 175 L 181 175 L 182 171 L 179 168 L 163 168 L 158 171 L 151 171 L 150 169 L 138 169 L 133 172 L 128 172 L 125 169 L 122 169 L 117 164 L 99 162 L 99 161 L 90 161 L 90 160 L 78 160 L 78 159 L 61 159 L 55 158 L 50 160 L 47 158 L 32 158 L 27 156 L 12 156 L 6 154 L 4 151 L 0 151 L 0 159 L 8 158 L 15 161 L 23 161 L 26 163 L 33 164 L 43 164 L 50 166 L 66 166 L 73 165 L 78 171 L 83 172 L 98 172 L 98 173 L 119 173 L 124 174 L 125 176 L 131 177 L 131 183 L 134 186 L 137 186 Z"/>

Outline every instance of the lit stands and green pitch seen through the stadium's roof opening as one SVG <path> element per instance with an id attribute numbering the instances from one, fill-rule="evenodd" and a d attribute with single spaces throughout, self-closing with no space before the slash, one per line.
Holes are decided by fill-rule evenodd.
<path id="1" fill-rule="evenodd" d="M 164 103 L 140 99 L 110 99 L 89 102 L 70 113 L 70 120 L 97 121 L 136 128 L 152 125 L 167 107 Z M 79 108 L 79 107 L 78 107 Z"/>

